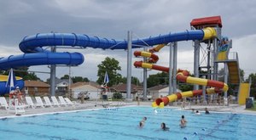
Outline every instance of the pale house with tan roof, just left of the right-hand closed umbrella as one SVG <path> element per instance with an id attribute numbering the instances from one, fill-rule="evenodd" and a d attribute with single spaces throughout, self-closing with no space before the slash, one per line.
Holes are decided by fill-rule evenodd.
<path id="1" fill-rule="evenodd" d="M 101 87 L 94 81 L 76 82 L 70 86 L 73 98 L 79 98 L 79 93 L 84 92 L 90 99 L 100 98 Z"/>

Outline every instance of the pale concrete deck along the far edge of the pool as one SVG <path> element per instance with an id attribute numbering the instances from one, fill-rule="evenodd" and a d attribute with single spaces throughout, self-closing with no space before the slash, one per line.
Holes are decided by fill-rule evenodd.
<path id="1" fill-rule="evenodd" d="M 139 102 L 139 106 L 151 106 L 152 102 Z M 38 114 L 46 114 L 46 113 L 55 113 L 55 112 L 63 112 L 63 111 L 72 111 L 72 110 L 81 110 L 81 109 L 102 109 L 104 107 L 120 107 L 120 106 L 131 106 L 131 105 L 138 105 L 137 102 L 131 102 L 131 103 L 125 103 L 125 102 L 112 102 L 108 106 L 108 103 L 102 103 L 96 101 L 85 101 L 84 104 L 77 103 L 73 106 L 61 106 L 61 107 L 47 107 L 47 108 L 26 108 L 25 114 L 21 115 L 38 115 Z M 211 112 L 231 112 L 236 114 L 253 114 L 256 115 L 256 111 L 250 111 L 245 109 L 245 105 L 238 105 L 238 104 L 230 104 L 229 106 L 223 106 L 223 105 L 197 105 L 192 104 L 189 108 L 185 108 L 184 110 L 199 110 L 204 111 L 204 109 L 207 107 L 207 109 Z M 168 108 L 173 109 L 181 109 L 181 105 L 170 105 Z M 4 117 L 11 117 L 15 116 L 14 112 L 9 112 L 3 107 L 0 109 L 0 118 Z"/>

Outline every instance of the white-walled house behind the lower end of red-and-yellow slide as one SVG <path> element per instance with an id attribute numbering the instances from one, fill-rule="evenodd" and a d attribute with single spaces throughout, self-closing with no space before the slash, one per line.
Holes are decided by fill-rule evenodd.
<path id="1" fill-rule="evenodd" d="M 154 87 L 148 88 L 149 95 L 152 96 L 153 99 L 161 98 L 169 95 L 169 86 L 168 85 L 158 85 Z M 181 92 L 177 89 L 177 92 Z"/>

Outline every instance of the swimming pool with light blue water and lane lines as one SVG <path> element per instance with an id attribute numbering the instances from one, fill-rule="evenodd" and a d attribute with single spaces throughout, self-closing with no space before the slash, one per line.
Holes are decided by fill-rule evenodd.
<path id="1" fill-rule="evenodd" d="M 0 119 L 0 139 L 255 139 L 256 115 L 212 113 L 195 115 L 190 111 L 149 107 L 93 109 L 55 115 L 34 115 Z M 185 115 L 187 127 L 180 128 L 179 120 Z M 139 121 L 146 116 L 145 126 Z M 161 131 L 165 122 L 170 131 Z"/>

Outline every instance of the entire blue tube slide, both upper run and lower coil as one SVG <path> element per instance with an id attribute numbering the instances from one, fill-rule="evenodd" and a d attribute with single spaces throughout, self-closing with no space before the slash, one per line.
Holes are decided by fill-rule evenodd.
<path id="1" fill-rule="evenodd" d="M 182 31 L 166 35 L 149 36 L 144 39 L 132 41 L 132 48 L 142 48 L 145 45 L 153 46 L 168 42 L 202 40 L 204 31 Z M 0 59 L 0 70 L 9 70 L 21 66 L 44 65 L 44 64 L 68 64 L 79 65 L 84 62 L 81 53 L 50 53 L 44 47 L 68 46 L 79 48 L 102 48 L 102 49 L 126 49 L 127 41 L 87 36 L 75 33 L 40 33 L 33 36 L 25 36 L 20 42 L 20 50 L 24 54 L 11 55 Z M 5 82 L 6 81 L 0 81 Z M 2 85 L 5 85 L 4 83 Z M 6 87 L 0 83 L 0 94 L 6 93 Z M 24 85 L 19 85 L 23 87 Z"/>

